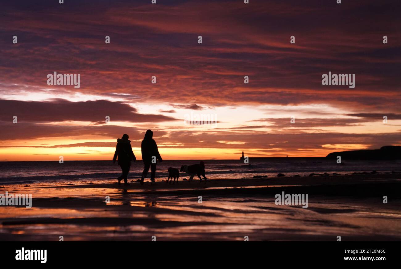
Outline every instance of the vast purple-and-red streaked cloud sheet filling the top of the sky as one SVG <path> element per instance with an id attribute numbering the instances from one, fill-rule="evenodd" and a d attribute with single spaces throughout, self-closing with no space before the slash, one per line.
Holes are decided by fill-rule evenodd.
<path id="1" fill-rule="evenodd" d="M 246 7 L 242 1 L 169 1 L 151 8 L 128 0 L 75 1 L 62 9 L 22 3 L 2 6 L 2 94 L 45 88 L 184 107 L 325 103 L 401 110 L 398 0 L 253 0 Z M 18 44 L 7 38 L 14 35 Z M 81 88 L 47 86 L 54 71 L 81 74 Z M 356 87 L 322 86 L 329 71 L 356 74 Z"/>

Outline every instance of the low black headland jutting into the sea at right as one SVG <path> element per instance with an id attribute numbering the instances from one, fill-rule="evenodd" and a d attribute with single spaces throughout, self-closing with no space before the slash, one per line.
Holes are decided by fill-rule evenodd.
<path id="1" fill-rule="evenodd" d="M 383 146 L 380 149 L 362 149 L 329 153 L 326 158 L 350 160 L 395 160 L 401 159 L 401 146 Z"/>

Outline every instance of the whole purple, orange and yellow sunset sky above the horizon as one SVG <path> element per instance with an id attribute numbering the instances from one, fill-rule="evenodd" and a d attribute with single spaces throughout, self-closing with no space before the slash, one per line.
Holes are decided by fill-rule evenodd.
<path id="1" fill-rule="evenodd" d="M 140 159 L 147 129 L 164 159 L 401 145 L 399 0 L 64 2 L 2 3 L 0 161 L 112 159 L 124 133 Z M 355 88 L 323 86 L 328 72 Z"/>

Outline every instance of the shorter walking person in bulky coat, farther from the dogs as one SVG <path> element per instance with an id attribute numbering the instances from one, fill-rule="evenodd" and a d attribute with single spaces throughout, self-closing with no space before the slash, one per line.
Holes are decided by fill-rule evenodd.
<path id="1" fill-rule="evenodd" d="M 118 184 L 121 184 L 121 180 L 124 179 L 124 185 L 130 185 L 128 184 L 127 179 L 128 172 L 130 172 L 131 161 L 135 161 L 136 157 L 134 155 L 134 152 L 132 152 L 131 141 L 128 140 L 128 134 L 124 134 L 121 139 L 117 139 L 113 163 L 115 163 L 115 159 L 117 159 L 117 156 L 117 163 L 122 170 L 122 174 L 117 178 Z"/>

